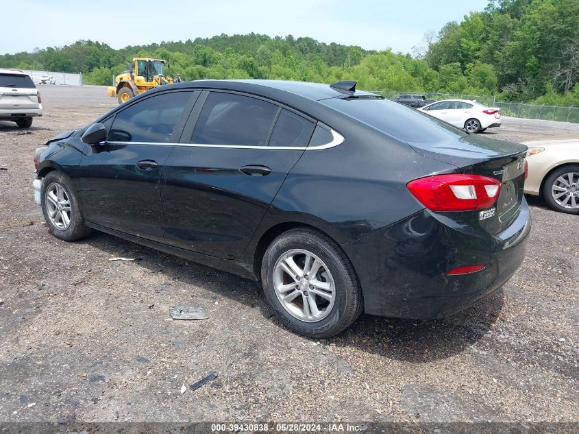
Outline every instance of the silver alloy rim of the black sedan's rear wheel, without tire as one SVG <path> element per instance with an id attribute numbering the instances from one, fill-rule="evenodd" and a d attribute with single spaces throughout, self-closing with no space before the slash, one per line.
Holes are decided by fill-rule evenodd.
<path id="1" fill-rule="evenodd" d="M 289 250 L 278 258 L 273 267 L 273 287 L 283 308 L 304 322 L 323 320 L 336 300 L 330 270 L 308 250 Z"/>

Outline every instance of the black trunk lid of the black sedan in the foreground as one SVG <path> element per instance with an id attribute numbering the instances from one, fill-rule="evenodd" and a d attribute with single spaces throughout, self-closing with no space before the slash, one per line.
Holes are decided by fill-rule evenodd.
<path id="1" fill-rule="evenodd" d="M 494 206 L 470 212 L 487 232 L 501 232 L 519 215 L 525 184 L 525 145 L 474 134 L 409 145 L 423 156 L 458 167 L 462 173 L 488 176 L 501 182 Z"/>

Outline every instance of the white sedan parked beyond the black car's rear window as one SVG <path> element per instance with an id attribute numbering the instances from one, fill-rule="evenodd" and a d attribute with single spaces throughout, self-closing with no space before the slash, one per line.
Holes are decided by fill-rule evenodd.
<path id="1" fill-rule="evenodd" d="M 418 108 L 430 116 L 448 122 L 468 132 L 481 132 L 486 128 L 500 127 L 502 123 L 499 108 L 487 107 L 466 99 L 443 99 L 428 106 Z"/>

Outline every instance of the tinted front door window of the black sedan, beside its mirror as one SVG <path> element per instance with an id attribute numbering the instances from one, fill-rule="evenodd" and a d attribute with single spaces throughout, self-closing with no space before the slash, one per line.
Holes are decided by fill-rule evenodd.
<path id="1" fill-rule="evenodd" d="M 167 143 L 173 138 L 193 92 L 169 92 L 142 99 L 116 114 L 108 133 L 111 142 Z"/>

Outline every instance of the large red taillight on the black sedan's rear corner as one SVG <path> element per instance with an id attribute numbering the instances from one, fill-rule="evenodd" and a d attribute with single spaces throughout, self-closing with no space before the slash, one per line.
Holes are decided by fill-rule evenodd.
<path id="1" fill-rule="evenodd" d="M 495 204 L 501 182 L 480 175 L 437 175 L 406 184 L 410 193 L 433 211 L 472 211 Z"/>

